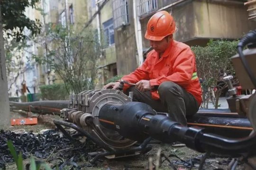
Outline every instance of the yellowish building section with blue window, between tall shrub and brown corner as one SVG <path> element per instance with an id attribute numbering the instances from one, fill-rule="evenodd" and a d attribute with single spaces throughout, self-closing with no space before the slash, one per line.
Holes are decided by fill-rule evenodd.
<path id="1" fill-rule="evenodd" d="M 103 47 L 98 64 L 98 81 L 96 88 L 102 88 L 111 77 L 117 76 L 116 46 L 114 35 L 114 20 L 111 0 L 91 0 L 88 6 L 91 26 L 98 30 L 99 40 Z M 93 16 L 96 17 L 93 18 Z"/>

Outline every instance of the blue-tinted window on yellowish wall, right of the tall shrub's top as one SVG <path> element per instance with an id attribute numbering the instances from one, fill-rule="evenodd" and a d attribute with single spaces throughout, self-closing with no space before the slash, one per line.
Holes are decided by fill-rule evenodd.
<path id="1" fill-rule="evenodd" d="M 105 40 L 108 45 L 115 43 L 113 18 L 103 23 Z"/>

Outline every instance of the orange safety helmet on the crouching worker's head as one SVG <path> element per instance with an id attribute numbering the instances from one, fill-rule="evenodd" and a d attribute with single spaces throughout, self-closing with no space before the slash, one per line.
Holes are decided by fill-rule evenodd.
<path id="1" fill-rule="evenodd" d="M 152 41 L 161 41 L 165 36 L 177 30 L 174 18 L 167 11 L 156 12 L 148 21 L 145 38 Z"/>

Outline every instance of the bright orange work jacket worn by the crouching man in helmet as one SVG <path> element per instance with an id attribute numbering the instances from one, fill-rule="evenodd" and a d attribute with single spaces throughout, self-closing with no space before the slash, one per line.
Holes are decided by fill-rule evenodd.
<path id="1" fill-rule="evenodd" d="M 165 81 L 172 81 L 191 93 L 198 105 L 202 102 L 195 56 L 190 47 L 182 42 L 173 40 L 160 59 L 159 53 L 155 50 L 150 51 L 144 63 L 122 79 L 129 83 L 149 80 L 150 85 L 161 85 Z M 125 84 L 124 90 L 128 87 L 129 85 Z M 157 90 L 152 90 L 151 94 L 153 99 L 159 99 Z"/>

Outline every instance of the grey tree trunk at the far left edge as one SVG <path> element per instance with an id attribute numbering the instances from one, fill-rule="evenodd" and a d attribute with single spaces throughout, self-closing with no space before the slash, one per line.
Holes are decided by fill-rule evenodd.
<path id="1" fill-rule="evenodd" d="M 3 25 L 0 8 L 0 129 L 10 124 L 8 84 L 6 76 Z"/>

